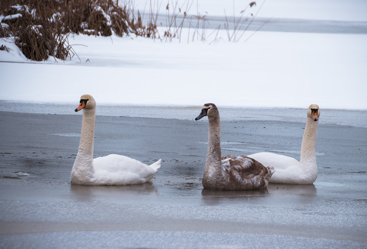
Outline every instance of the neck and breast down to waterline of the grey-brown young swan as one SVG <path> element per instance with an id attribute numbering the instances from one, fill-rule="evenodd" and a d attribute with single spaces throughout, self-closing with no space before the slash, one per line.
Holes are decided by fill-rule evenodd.
<path id="1" fill-rule="evenodd" d="M 203 181 L 206 177 L 221 179 L 223 175 L 221 147 L 220 147 L 220 117 L 219 113 L 215 117 L 208 117 L 209 120 L 209 135 L 208 135 L 208 150 L 205 161 Z"/>

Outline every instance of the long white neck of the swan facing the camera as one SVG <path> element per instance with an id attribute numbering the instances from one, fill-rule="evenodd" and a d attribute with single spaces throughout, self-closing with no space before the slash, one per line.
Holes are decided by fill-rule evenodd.
<path id="1" fill-rule="evenodd" d="M 314 121 L 312 118 L 307 117 L 305 132 L 302 138 L 301 145 L 301 170 L 308 175 L 317 176 L 317 163 L 316 163 L 316 135 L 319 121 Z"/>

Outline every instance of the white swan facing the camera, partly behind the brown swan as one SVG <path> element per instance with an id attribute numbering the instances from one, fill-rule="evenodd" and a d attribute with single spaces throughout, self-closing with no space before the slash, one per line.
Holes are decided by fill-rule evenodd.
<path id="1" fill-rule="evenodd" d="M 279 154 L 261 152 L 249 155 L 264 165 L 271 165 L 275 173 L 271 183 L 312 184 L 317 178 L 315 143 L 319 123 L 318 105 L 310 105 L 307 110 L 306 127 L 302 138 L 301 160 Z"/>

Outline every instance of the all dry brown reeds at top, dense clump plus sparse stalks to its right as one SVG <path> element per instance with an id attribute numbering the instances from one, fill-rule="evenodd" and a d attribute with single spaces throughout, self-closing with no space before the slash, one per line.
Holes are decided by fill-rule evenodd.
<path id="1" fill-rule="evenodd" d="M 144 25 L 140 12 L 137 12 L 137 16 L 134 14 L 134 0 L 125 1 L 119 4 L 119 0 L 1 0 L 0 15 L 4 18 L 0 20 L 0 38 L 12 37 L 25 57 L 35 61 L 47 60 L 50 56 L 61 60 L 71 59 L 76 54 L 68 41 L 70 33 L 94 36 L 115 34 L 121 37 L 135 34 L 165 41 L 174 38 L 181 41 L 185 22 L 189 27 L 188 42 L 190 39 L 207 40 L 207 13 L 188 15 L 194 0 L 186 0 L 182 6 L 178 6 L 177 1 L 168 0 L 165 7 L 167 28 L 162 37 L 157 27 L 162 2 L 156 2 L 155 6 L 150 1 L 149 17 Z M 225 14 L 224 29 L 228 41 L 238 42 L 241 39 L 254 18 L 252 13 L 245 15 L 245 12 L 254 6 L 256 2 L 250 2 L 238 18 L 233 16 L 232 29 Z M 212 32 L 216 32 L 213 42 L 222 39 L 218 38 L 220 29 L 221 26 L 218 26 Z"/>

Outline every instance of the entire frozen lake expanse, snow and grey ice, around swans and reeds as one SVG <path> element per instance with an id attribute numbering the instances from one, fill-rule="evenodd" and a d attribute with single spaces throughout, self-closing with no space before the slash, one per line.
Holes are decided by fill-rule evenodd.
<path id="1" fill-rule="evenodd" d="M 192 11 L 215 29 L 233 3 L 243 8 L 200 0 Z M 235 44 L 225 32 L 189 43 L 187 28 L 182 42 L 71 35 L 78 57 L 66 62 L 31 62 L 0 39 L 13 49 L 0 51 L 0 247 L 366 248 L 366 7 L 267 1 L 248 35 L 261 31 Z M 151 183 L 70 184 L 86 93 L 98 104 L 95 157 L 162 158 Z M 297 160 L 318 104 L 316 182 L 203 189 L 208 124 L 194 118 L 205 102 L 220 110 L 223 155 Z"/>

